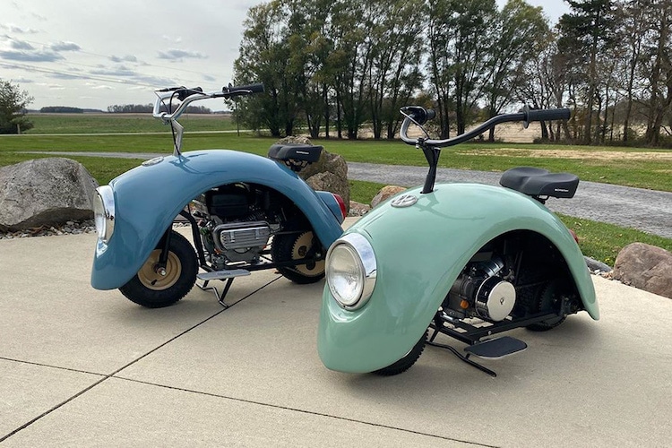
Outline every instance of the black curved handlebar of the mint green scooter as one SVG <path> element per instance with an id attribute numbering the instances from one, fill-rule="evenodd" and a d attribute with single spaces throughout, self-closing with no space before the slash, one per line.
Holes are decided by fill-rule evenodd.
<path id="1" fill-rule="evenodd" d="M 522 112 L 517 114 L 503 114 L 490 118 L 482 125 L 479 125 L 475 129 L 472 129 L 468 133 L 460 134 L 455 137 L 445 139 L 445 140 L 432 140 L 432 139 L 414 139 L 410 138 L 408 135 L 409 125 L 414 123 L 416 125 L 424 125 L 427 120 L 434 118 L 435 112 L 432 109 L 422 108 L 420 106 L 407 106 L 401 108 L 401 114 L 405 116 L 403 123 L 401 124 L 401 140 L 408 144 L 417 145 L 422 142 L 423 145 L 432 146 L 435 148 L 445 148 L 447 146 L 454 146 L 462 142 L 467 142 L 474 137 L 477 137 L 480 134 L 490 130 L 495 127 L 495 125 L 500 125 L 502 123 L 521 121 L 523 125 L 527 128 L 530 122 L 533 121 L 552 121 L 552 120 L 567 120 L 571 115 L 571 111 L 568 108 L 559 108 L 559 109 L 530 109 L 527 106 L 523 108 Z"/>

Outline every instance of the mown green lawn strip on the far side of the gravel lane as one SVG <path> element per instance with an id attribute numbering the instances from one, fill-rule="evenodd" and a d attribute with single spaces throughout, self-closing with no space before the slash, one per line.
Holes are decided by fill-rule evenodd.
<path id="1" fill-rule="evenodd" d="M 263 155 L 276 139 L 243 133 L 185 134 L 185 151 L 206 148 L 229 148 Z M 387 163 L 393 165 L 425 166 L 422 153 L 401 142 L 314 140 L 327 151 L 355 162 Z M 118 151 L 161 152 L 172 148 L 170 133 L 125 135 L 39 135 L 26 134 L 0 137 L 0 166 L 6 165 L 6 152 L 14 151 Z M 572 158 L 562 153 L 572 154 Z M 604 154 L 610 155 L 609 158 Z M 660 152 L 632 148 L 577 147 L 568 145 L 465 143 L 457 149 L 444 150 L 439 166 L 442 168 L 504 171 L 528 166 L 551 171 L 570 172 L 584 181 L 636 186 L 672 192 L 672 159 L 647 159 Z M 577 153 L 579 155 L 577 156 Z M 636 159 L 633 156 L 637 156 Z M 33 156 L 26 155 L 26 158 Z"/>

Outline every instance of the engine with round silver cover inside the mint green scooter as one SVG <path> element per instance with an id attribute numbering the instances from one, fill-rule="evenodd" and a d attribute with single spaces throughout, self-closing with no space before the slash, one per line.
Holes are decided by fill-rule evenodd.
<path id="1" fill-rule="evenodd" d="M 444 301 L 444 313 L 459 319 L 503 321 L 516 302 L 512 278 L 513 274 L 504 269 L 504 262 L 498 257 L 470 262 L 453 283 Z"/>

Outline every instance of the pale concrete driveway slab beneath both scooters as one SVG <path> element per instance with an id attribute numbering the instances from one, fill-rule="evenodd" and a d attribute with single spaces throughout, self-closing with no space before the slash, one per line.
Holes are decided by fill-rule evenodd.
<path id="1" fill-rule="evenodd" d="M 602 319 L 512 332 L 483 361 L 427 347 L 393 377 L 325 369 L 323 283 L 237 279 L 150 310 L 89 285 L 93 235 L 0 241 L 0 445 L 670 446 L 672 300 L 594 278 Z M 461 348 L 461 344 L 448 340 Z"/>

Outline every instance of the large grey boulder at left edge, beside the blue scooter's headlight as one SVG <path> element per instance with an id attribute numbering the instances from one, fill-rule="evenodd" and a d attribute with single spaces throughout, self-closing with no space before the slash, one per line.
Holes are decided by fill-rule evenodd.
<path id="1" fill-rule="evenodd" d="M 89 220 L 97 186 L 72 159 L 34 159 L 0 168 L 0 231 Z"/>

